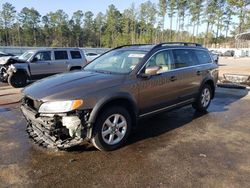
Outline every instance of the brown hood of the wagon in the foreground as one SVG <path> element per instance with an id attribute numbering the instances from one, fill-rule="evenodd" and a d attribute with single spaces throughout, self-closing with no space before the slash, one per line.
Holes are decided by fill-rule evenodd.
<path id="1" fill-rule="evenodd" d="M 39 80 L 24 88 L 24 95 L 42 101 L 69 100 L 121 84 L 124 75 L 77 71 Z"/>

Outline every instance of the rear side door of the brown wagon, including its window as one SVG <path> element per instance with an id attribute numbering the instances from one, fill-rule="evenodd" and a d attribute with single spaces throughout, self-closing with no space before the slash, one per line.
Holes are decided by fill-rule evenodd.
<path id="1" fill-rule="evenodd" d="M 181 87 L 177 92 L 178 100 L 185 101 L 195 98 L 200 87 L 200 74 L 198 60 L 194 51 L 189 48 L 173 49 L 173 60 Z"/>

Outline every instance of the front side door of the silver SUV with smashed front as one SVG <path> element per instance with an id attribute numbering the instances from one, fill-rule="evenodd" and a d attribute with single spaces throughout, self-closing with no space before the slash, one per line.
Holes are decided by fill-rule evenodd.
<path id="1" fill-rule="evenodd" d="M 51 51 L 37 52 L 29 63 L 31 78 L 42 78 L 52 74 Z"/>

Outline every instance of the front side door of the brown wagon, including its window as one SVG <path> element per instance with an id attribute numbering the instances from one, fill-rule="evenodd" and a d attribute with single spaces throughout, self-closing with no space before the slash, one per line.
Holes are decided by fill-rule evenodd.
<path id="1" fill-rule="evenodd" d="M 148 67 L 153 66 L 160 67 L 156 75 L 140 77 Z M 138 77 L 140 116 L 163 110 L 177 102 L 181 81 L 174 71 L 170 50 L 155 53 L 139 72 Z"/>

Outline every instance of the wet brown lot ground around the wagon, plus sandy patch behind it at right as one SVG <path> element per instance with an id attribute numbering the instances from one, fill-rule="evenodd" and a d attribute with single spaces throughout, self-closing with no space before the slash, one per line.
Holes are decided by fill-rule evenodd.
<path id="1" fill-rule="evenodd" d="M 221 72 L 250 74 L 248 59 L 219 64 Z M 249 89 L 218 88 L 206 114 L 188 106 L 142 120 L 113 152 L 87 143 L 69 152 L 38 147 L 25 132 L 20 99 L 20 89 L 0 84 L 0 187 L 250 185 Z"/>

